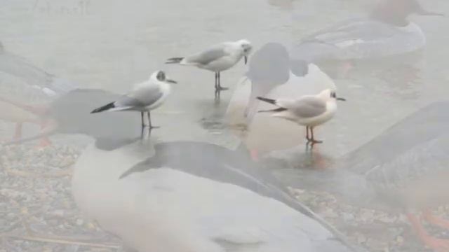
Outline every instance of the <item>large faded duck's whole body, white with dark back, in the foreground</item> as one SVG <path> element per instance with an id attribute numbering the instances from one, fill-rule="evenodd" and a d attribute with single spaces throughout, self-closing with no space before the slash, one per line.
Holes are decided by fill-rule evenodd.
<path id="1" fill-rule="evenodd" d="M 139 252 L 354 251 L 260 168 L 215 144 L 98 139 L 74 165 L 72 193 Z"/>

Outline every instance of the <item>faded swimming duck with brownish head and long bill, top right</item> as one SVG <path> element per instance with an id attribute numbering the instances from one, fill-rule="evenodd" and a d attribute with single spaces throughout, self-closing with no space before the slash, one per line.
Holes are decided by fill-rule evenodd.
<path id="1" fill-rule="evenodd" d="M 370 59 L 423 48 L 426 37 L 408 20 L 410 14 L 442 15 L 424 10 L 417 0 L 382 0 L 368 18 L 354 18 L 302 39 L 295 57 L 312 62 Z"/>

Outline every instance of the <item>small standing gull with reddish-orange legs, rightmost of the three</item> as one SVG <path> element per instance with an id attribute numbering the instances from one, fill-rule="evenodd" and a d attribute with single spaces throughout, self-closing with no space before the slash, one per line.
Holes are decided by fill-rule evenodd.
<path id="1" fill-rule="evenodd" d="M 311 144 L 323 142 L 314 139 L 314 127 L 333 118 L 337 111 L 337 100 L 346 101 L 344 98 L 337 97 L 336 92 L 330 89 L 323 90 L 317 95 L 304 95 L 300 99 L 267 99 L 264 97 L 257 97 L 257 99 L 278 106 L 277 109 L 259 112 L 274 112 L 272 114 L 274 117 L 284 118 L 305 126 L 306 139 Z"/>

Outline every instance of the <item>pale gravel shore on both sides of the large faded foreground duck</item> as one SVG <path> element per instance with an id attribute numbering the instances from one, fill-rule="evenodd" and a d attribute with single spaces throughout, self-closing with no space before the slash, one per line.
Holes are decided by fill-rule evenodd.
<path id="1" fill-rule="evenodd" d="M 0 252 L 123 251 L 119 239 L 83 218 L 74 203 L 72 167 L 82 150 L 58 144 L 0 149 Z M 352 207 L 326 193 L 292 193 L 369 251 L 431 251 L 415 237 L 406 216 Z M 448 210 L 441 207 L 437 214 L 448 217 Z M 431 230 L 438 237 L 449 236 Z"/>

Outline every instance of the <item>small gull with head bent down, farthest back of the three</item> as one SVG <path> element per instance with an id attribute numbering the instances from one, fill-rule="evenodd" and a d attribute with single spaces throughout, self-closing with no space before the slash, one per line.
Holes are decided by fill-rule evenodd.
<path id="1" fill-rule="evenodd" d="M 166 64 L 192 65 L 215 72 L 215 91 L 217 92 L 228 89 L 227 87 L 222 87 L 220 83 L 220 72 L 230 69 L 242 57 L 245 58 L 246 64 L 252 48 L 250 41 L 246 39 L 235 42 L 223 42 L 194 55 L 167 59 Z"/>

